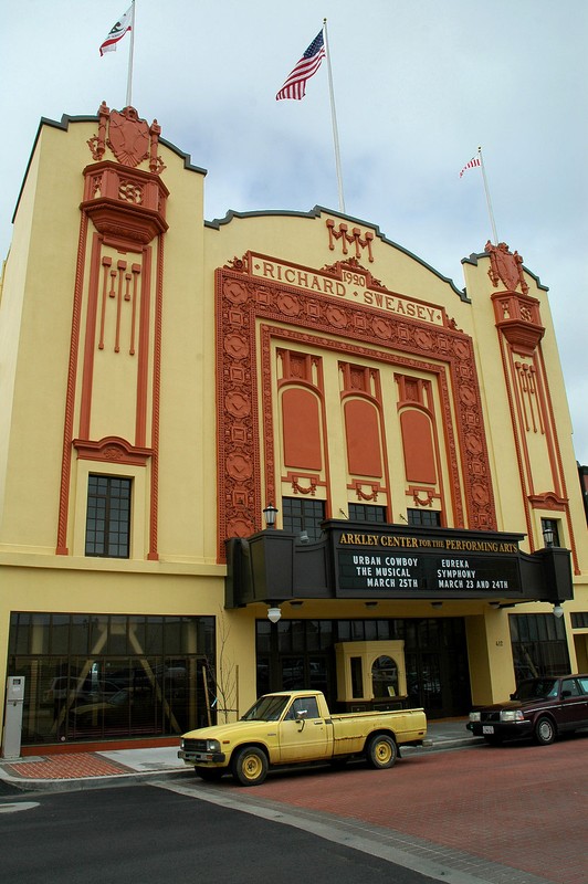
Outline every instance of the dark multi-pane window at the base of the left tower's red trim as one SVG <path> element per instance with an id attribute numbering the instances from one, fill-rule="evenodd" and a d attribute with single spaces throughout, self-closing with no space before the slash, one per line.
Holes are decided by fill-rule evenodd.
<path id="1" fill-rule="evenodd" d="M 130 478 L 88 476 L 86 556 L 128 559 L 129 535 Z"/>

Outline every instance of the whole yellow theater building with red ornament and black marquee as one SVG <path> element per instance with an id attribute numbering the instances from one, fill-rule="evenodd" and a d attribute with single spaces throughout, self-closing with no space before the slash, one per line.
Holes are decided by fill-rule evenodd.
<path id="1" fill-rule="evenodd" d="M 324 208 L 206 221 L 204 175 L 134 108 L 39 128 L 0 302 L 22 751 L 175 740 L 290 687 L 463 716 L 586 671 L 538 276 L 480 243 L 460 288 Z"/>

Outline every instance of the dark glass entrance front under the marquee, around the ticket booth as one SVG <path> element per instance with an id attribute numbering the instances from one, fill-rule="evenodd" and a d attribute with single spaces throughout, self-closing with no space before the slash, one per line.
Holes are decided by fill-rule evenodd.
<path id="1" fill-rule="evenodd" d="M 465 715 L 471 705 L 462 618 L 393 620 L 280 620 L 256 624 L 258 695 L 267 691 L 323 691 L 337 708 L 335 644 L 405 642 L 408 705 L 431 718 Z"/>

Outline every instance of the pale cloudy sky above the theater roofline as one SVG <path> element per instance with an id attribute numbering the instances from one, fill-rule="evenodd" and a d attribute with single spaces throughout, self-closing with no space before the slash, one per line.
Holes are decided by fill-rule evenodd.
<path id="1" fill-rule="evenodd" d="M 130 0 L 4 0 L 0 257 L 41 117 L 126 104 L 130 38 L 98 48 Z M 132 104 L 208 170 L 204 215 L 337 210 L 328 76 L 275 93 L 327 19 L 346 213 L 459 288 L 492 225 L 549 288 L 588 464 L 588 2 L 136 0 Z"/>

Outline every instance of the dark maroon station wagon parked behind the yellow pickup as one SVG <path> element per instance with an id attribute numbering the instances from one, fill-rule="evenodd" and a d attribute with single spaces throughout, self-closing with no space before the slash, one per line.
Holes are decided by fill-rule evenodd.
<path id="1" fill-rule="evenodd" d="M 491 744 L 533 737 L 542 746 L 580 727 L 588 727 L 588 675 L 528 678 L 510 701 L 474 708 L 466 725 Z"/>

